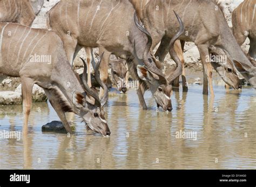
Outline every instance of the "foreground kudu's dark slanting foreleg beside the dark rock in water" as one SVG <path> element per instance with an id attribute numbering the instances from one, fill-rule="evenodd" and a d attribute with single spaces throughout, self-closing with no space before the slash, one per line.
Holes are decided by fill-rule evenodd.
<path id="1" fill-rule="evenodd" d="M 44 92 L 49 99 L 49 102 L 51 103 L 53 109 L 56 111 L 59 119 L 62 121 L 63 126 L 65 127 L 66 132 L 73 133 L 71 130 L 68 120 L 66 119 L 65 112 L 63 112 L 62 107 L 60 106 L 58 100 L 56 100 L 53 95 L 51 94 L 50 90 L 44 89 Z"/>

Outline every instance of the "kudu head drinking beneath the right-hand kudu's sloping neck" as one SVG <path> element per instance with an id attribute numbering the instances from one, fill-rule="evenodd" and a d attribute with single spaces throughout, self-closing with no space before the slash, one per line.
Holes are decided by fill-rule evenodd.
<path id="1" fill-rule="evenodd" d="M 225 52 L 214 46 L 211 46 L 209 49 L 211 54 L 211 64 L 219 76 L 226 84 L 233 87 L 233 89 L 241 89 L 242 85 L 237 69 Z"/>

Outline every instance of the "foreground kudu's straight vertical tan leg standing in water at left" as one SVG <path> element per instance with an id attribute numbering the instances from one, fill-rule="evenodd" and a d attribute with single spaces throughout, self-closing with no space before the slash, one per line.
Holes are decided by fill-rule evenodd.
<path id="1" fill-rule="evenodd" d="M 22 82 L 22 105 L 23 105 L 23 134 L 28 133 L 29 114 L 32 105 L 33 80 L 28 77 L 21 77 Z"/>

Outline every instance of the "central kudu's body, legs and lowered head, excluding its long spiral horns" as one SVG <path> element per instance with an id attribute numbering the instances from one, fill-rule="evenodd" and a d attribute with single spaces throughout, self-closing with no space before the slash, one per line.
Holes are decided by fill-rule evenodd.
<path id="1" fill-rule="evenodd" d="M 48 28 L 63 40 L 70 62 L 82 47 L 99 47 L 99 54 L 105 52 L 100 66 L 100 78 L 104 83 L 110 55 L 126 59 L 133 80 L 139 80 L 137 93 L 143 109 L 147 109 L 144 92 L 150 89 L 164 111 L 171 111 L 171 86 L 163 81 L 165 75 L 156 67 L 156 58 L 147 53 L 149 50 L 145 46 L 148 47 L 149 37 L 136 27 L 133 13 L 129 1 L 61 1 L 48 12 Z M 138 73 L 137 65 L 140 65 Z M 170 75 L 168 81 L 177 76 Z"/>

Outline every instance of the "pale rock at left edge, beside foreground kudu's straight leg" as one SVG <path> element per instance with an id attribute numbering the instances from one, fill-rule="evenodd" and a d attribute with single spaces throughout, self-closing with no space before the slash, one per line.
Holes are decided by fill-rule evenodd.
<path id="1" fill-rule="evenodd" d="M 0 91 L 0 105 L 20 105 L 22 104 L 21 93 L 14 91 Z"/>

